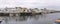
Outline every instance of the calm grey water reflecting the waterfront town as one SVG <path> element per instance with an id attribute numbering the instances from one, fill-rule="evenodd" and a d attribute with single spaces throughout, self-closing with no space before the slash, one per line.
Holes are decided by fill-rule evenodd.
<path id="1" fill-rule="evenodd" d="M 3 18 L 2 24 L 53 24 L 56 19 L 60 18 L 60 13 L 35 16 L 4 16 Z"/>

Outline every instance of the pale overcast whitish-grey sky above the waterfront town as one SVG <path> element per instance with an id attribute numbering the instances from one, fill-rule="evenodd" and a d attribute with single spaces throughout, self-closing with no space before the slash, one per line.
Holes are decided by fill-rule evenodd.
<path id="1" fill-rule="evenodd" d="M 27 7 L 60 10 L 60 0 L 0 0 L 0 8 Z"/>

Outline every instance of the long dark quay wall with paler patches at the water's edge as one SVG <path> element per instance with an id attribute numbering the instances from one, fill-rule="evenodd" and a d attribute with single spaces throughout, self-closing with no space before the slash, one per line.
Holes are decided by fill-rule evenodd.
<path id="1" fill-rule="evenodd" d="M 37 15 L 41 13 L 0 13 L 0 16 L 21 16 L 21 15 Z"/>

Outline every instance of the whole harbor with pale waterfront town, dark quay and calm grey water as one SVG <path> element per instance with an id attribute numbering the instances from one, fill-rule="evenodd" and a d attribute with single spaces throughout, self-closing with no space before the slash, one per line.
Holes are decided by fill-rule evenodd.
<path id="1" fill-rule="evenodd" d="M 0 9 L 1 24 L 53 24 L 60 11 L 21 7 Z"/>

